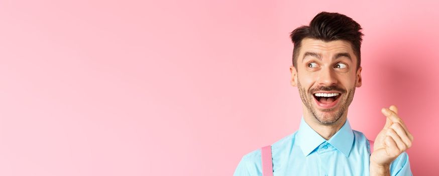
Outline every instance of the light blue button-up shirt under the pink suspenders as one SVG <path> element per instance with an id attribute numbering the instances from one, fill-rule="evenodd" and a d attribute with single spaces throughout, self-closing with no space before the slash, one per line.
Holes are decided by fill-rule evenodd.
<path id="1" fill-rule="evenodd" d="M 299 130 L 275 142 L 272 148 L 273 175 L 369 175 L 370 146 L 363 133 L 342 128 L 325 140 L 304 120 Z M 242 157 L 234 176 L 262 175 L 261 149 Z M 406 152 L 390 164 L 390 175 L 413 175 Z"/>

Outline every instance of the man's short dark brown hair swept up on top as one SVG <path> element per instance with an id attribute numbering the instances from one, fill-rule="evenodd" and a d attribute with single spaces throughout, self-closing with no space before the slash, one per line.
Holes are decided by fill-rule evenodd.
<path id="1" fill-rule="evenodd" d="M 294 43 L 293 65 L 297 68 L 297 57 L 300 44 L 304 38 L 311 38 L 330 42 L 334 40 L 345 40 L 351 43 L 354 54 L 358 58 L 357 69 L 361 63 L 361 42 L 363 33 L 361 26 L 352 18 L 339 14 L 320 12 L 309 23 L 309 26 L 300 26 L 290 33 L 291 41 Z"/>

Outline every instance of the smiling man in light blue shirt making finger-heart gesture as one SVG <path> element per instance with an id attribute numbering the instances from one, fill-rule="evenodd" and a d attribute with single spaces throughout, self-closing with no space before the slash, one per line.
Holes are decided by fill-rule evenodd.
<path id="1" fill-rule="evenodd" d="M 361 29 L 345 15 L 321 12 L 291 32 L 291 85 L 299 90 L 303 115 L 295 133 L 271 145 L 274 175 L 412 175 L 405 150 L 413 136 L 395 106 L 381 111 L 387 120 L 372 153 L 347 119 L 362 84 Z M 246 154 L 234 175 L 262 175 L 261 149 Z"/>

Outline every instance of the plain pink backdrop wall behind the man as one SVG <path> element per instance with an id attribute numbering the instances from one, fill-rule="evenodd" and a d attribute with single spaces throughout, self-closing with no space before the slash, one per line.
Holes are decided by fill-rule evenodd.
<path id="1" fill-rule="evenodd" d="M 364 28 L 349 120 L 382 107 L 437 172 L 434 1 L 0 1 L 0 175 L 232 175 L 297 130 L 288 35 L 320 11 Z"/>

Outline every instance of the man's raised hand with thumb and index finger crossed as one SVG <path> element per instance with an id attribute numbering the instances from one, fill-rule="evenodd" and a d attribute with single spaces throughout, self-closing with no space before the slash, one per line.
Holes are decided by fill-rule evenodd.
<path id="1" fill-rule="evenodd" d="M 411 147 L 413 136 L 398 117 L 398 109 L 395 106 L 383 108 L 381 112 L 387 117 L 386 125 L 375 138 L 370 161 L 371 164 L 389 166 L 402 152 Z"/>

